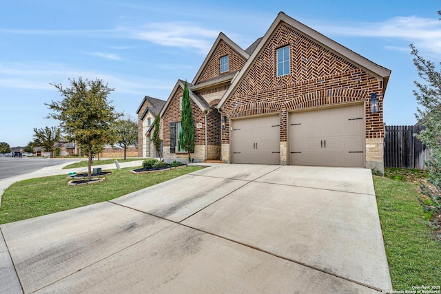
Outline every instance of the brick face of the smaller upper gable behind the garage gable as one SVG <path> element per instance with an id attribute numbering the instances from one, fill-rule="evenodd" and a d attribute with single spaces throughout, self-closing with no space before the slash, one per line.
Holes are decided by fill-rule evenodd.
<path id="1" fill-rule="evenodd" d="M 242 55 L 238 54 L 236 50 L 221 40 L 195 85 L 203 81 L 207 81 L 209 78 L 220 76 L 220 57 L 225 55 L 228 55 L 229 69 L 227 72 L 223 72 L 222 74 L 228 74 L 229 72 L 242 69 L 243 65 L 245 65 L 245 62 L 247 61 Z"/>

